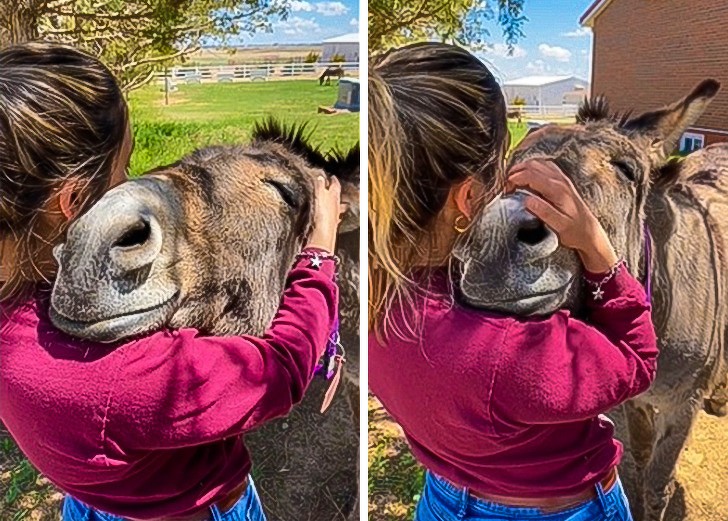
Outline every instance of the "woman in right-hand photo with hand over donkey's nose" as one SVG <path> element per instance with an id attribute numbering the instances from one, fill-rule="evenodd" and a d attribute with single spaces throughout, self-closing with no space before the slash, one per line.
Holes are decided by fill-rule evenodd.
<path id="1" fill-rule="evenodd" d="M 654 379 L 643 288 L 553 164 L 503 178 L 505 102 L 467 51 L 392 50 L 370 67 L 369 97 L 369 385 L 427 468 L 416 519 L 631 519 L 601 413 Z M 604 292 L 587 297 L 588 322 L 455 301 L 453 248 L 504 187 L 530 192 Z"/>

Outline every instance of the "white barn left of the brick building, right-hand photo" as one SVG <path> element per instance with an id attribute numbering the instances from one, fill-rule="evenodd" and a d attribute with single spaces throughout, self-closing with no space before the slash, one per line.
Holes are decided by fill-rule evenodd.
<path id="1" fill-rule="evenodd" d="M 588 95 L 589 83 L 576 76 L 527 76 L 503 83 L 503 94 L 509 105 L 516 98 L 526 100 L 526 105 L 563 105 L 573 103 L 575 92 Z"/>

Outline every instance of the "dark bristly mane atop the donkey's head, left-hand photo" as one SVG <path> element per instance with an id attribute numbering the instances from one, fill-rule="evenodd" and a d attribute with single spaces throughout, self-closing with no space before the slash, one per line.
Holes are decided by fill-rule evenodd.
<path id="1" fill-rule="evenodd" d="M 313 167 L 342 180 L 359 176 L 359 144 L 344 152 L 339 149 L 321 152 L 319 146 L 311 143 L 312 132 L 308 122 L 286 124 L 274 117 L 253 124 L 253 141 L 280 143 L 291 152 L 303 156 Z M 355 179 L 351 179 L 352 181 Z"/>

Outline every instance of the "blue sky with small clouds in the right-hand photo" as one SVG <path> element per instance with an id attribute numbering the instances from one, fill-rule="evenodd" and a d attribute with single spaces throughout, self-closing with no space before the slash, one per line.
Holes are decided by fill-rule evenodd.
<path id="1" fill-rule="evenodd" d="M 491 48 L 482 57 L 502 80 L 532 75 L 574 75 L 589 79 L 591 31 L 579 18 L 592 0 L 526 0 L 528 18 L 522 38 L 508 56 L 497 26 L 490 29 Z"/>

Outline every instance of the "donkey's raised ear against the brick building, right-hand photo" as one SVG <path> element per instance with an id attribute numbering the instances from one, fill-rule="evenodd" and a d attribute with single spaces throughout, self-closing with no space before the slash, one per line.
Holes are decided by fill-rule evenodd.
<path id="1" fill-rule="evenodd" d="M 661 166 L 677 147 L 683 132 L 698 121 L 719 90 L 720 83 L 704 80 L 680 101 L 632 118 L 621 128 L 637 139 L 648 141 L 653 166 Z"/>

